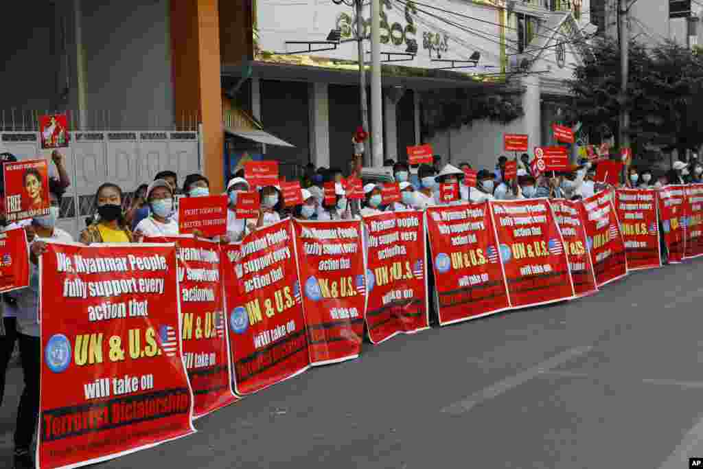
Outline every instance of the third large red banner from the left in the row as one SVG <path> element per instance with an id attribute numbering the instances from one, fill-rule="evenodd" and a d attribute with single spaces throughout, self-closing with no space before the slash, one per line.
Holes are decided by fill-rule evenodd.
<path id="1" fill-rule="evenodd" d="M 310 364 L 290 221 L 222 250 L 235 390 L 251 394 Z"/>

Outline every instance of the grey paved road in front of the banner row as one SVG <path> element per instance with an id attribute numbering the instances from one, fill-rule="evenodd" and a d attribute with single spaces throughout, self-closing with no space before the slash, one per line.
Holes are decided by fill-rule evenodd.
<path id="1" fill-rule="evenodd" d="M 574 302 L 365 344 L 357 361 L 101 467 L 688 468 L 703 456 L 702 305 L 699 261 Z M 18 385 L 9 392 L 3 462 Z"/>

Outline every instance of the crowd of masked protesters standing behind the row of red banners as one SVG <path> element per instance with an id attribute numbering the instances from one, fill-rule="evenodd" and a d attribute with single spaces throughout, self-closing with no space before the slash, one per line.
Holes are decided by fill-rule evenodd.
<path id="1" fill-rule="evenodd" d="M 0 155 L 1 162 L 17 159 L 9 154 Z M 24 227 L 30 242 L 30 286 L 13 293 L 2 295 L 2 321 L 0 323 L 0 405 L 4 397 L 5 375 L 15 342 L 19 344 L 25 387 L 20 398 L 17 425 L 14 435 L 14 467 L 34 467 L 30 445 L 36 431 L 39 413 L 39 372 L 41 345 L 37 310 L 39 307 L 39 256 L 46 250 L 46 240 L 72 241 L 72 236 L 56 227 L 59 218 L 60 200 L 70 181 L 65 170 L 63 156 L 54 152 L 52 160 L 58 178 L 51 179 L 49 192 L 51 209 L 48 215 L 37 217 L 21 224 L 8 225 L 5 221 L 4 206 L 0 206 L 0 226 L 3 229 Z M 238 196 L 252 190 L 245 179 L 243 170 L 233 174 L 226 184 L 228 197 L 228 217 L 226 235 L 219 236 L 222 243 L 242 240 L 247 233 L 274 224 L 286 217 L 303 220 L 356 219 L 384 211 L 424 210 L 432 205 L 440 205 L 439 186 L 442 183 L 455 183 L 459 186 L 459 200 L 453 203 L 481 203 L 485 200 L 510 200 L 522 198 L 568 198 L 577 200 L 588 198 L 595 193 L 610 188 L 605 183 L 595 181 L 596 165 L 582 160 L 579 165 L 568 167 L 562 172 L 533 174 L 529 155 L 517 160 L 517 177 L 505 178 L 505 165 L 508 158 L 501 156 L 491 169 L 479 169 L 475 186 L 465 184 L 465 169 L 471 169 L 467 162 L 458 166 L 440 164 L 435 157 L 432 165 L 409 167 L 405 162 L 386 160 L 385 166 L 392 167 L 393 179 L 399 183 L 401 200 L 384 204 L 382 184 L 368 183 L 363 186 L 363 200 L 348 200 L 342 180 L 345 177 L 363 176 L 361 155 L 355 155 L 349 166 L 340 168 L 315 168 L 307 165 L 301 178 L 302 203 L 286 207 L 283 194 L 278 186 L 257 188 L 261 207 L 256 219 L 238 219 L 236 205 Z M 1 172 L 0 172 L 1 175 Z M 628 188 L 657 188 L 666 184 L 690 184 L 703 181 L 703 165 L 696 158 L 690 162 L 676 161 L 669 172 L 655 172 L 649 167 L 628 167 L 621 174 L 621 186 Z M 335 186 L 335 198 L 330 202 L 325 198 L 325 183 Z M 0 200 L 4 185 L 0 181 Z M 178 229 L 179 197 L 203 197 L 210 194 L 208 179 L 202 174 L 191 174 L 179 186 L 178 176 L 171 171 L 160 172 L 149 184 L 139 186 L 127 200 L 120 186 L 106 182 L 95 193 L 95 213 L 86 220 L 86 227 L 79 235 L 79 241 L 93 243 L 138 243 L 146 238 L 175 236 Z M 195 236 L 202 233 L 195 232 Z"/>

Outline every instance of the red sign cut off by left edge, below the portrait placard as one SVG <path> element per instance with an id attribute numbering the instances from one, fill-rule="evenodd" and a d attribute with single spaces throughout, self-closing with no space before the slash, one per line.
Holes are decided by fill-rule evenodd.
<path id="1" fill-rule="evenodd" d="M 25 229 L 0 233 L 0 293 L 30 285 L 29 255 Z"/>

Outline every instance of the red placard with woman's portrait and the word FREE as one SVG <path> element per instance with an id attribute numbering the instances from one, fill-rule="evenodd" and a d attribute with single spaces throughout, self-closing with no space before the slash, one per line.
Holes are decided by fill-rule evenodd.
<path id="1" fill-rule="evenodd" d="M 49 166 L 46 160 L 4 163 L 8 223 L 49 214 Z"/>

